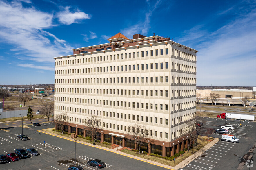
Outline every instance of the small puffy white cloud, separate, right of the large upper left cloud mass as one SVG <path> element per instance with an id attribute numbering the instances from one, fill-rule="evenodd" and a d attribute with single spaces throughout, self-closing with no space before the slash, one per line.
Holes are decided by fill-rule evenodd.
<path id="1" fill-rule="evenodd" d="M 70 7 L 66 7 L 65 11 L 58 12 L 57 17 L 59 21 L 63 24 L 70 25 L 72 23 L 78 23 L 77 20 L 90 19 L 91 16 L 84 12 L 77 10 L 77 12 L 70 12 Z"/>

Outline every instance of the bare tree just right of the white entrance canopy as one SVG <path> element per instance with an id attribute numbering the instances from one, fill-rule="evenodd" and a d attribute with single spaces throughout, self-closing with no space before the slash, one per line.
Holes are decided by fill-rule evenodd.
<path id="1" fill-rule="evenodd" d="M 150 145 L 152 143 L 152 140 L 149 140 L 152 136 L 148 134 L 148 130 L 146 125 L 140 125 L 140 124 L 132 124 L 129 125 L 128 131 L 125 131 L 129 135 L 131 139 L 127 140 L 133 140 L 135 144 L 137 144 L 138 149 L 139 149 L 139 154 L 140 154 L 140 146 L 143 145 L 145 146 L 145 143 L 147 145 Z M 137 148 L 135 148 L 137 149 Z"/>

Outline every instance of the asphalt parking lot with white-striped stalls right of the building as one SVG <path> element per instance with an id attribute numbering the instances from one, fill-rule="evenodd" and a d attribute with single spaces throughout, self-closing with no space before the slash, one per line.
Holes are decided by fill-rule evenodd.
<path id="1" fill-rule="evenodd" d="M 204 128 L 220 129 L 221 126 L 225 125 L 224 119 L 202 117 L 202 120 L 204 121 Z M 241 121 L 242 125 L 239 123 L 240 121 L 237 120 L 226 119 L 226 125 L 234 126 L 234 130 L 229 130 L 228 134 L 236 136 L 239 143 L 221 141 L 221 134 L 213 133 L 211 137 L 220 140 L 182 169 L 237 169 L 241 159 L 239 156 L 244 156 L 256 144 L 256 122 Z"/>

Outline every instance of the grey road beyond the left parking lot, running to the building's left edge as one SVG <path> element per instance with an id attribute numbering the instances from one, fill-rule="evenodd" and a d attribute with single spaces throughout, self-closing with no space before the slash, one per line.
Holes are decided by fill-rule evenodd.
<path id="1" fill-rule="evenodd" d="M 54 117 L 50 117 L 49 121 L 53 121 Z M 47 117 L 46 118 L 41 118 L 41 119 L 31 119 L 32 123 L 38 122 L 46 122 L 48 121 Z M 23 119 L 23 125 L 26 124 L 31 124 L 30 120 L 25 120 Z M 22 120 L 20 121 L 12 121 L 12 122 L 1 122 L 0 123 L 0 128 L 10 128 L 10 127 L 14 127 L 14 126 L 19 126 L 22 125 Z"/>

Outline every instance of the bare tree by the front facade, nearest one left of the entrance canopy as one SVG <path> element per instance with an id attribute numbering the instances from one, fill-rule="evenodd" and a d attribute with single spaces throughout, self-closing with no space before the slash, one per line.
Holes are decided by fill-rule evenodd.
<path id="1" fill-rule="evenodd" d="M 92 140 L 97 139 L 97 133 L 101 133 L 102 126 L 101 126 L 101 119 L 98 115 L 91 114 L 85 120 L 85 129 L 88 130 L 88 133 L 92 135 Z"/>

